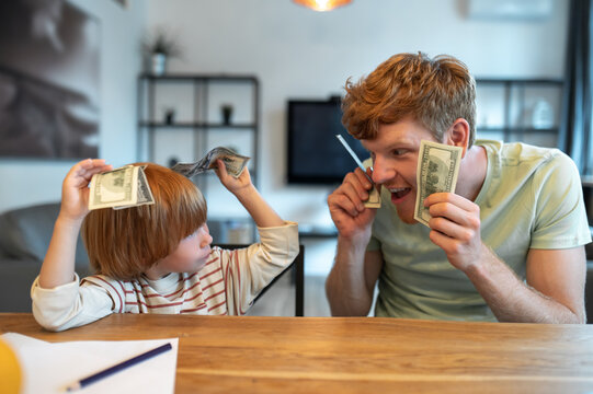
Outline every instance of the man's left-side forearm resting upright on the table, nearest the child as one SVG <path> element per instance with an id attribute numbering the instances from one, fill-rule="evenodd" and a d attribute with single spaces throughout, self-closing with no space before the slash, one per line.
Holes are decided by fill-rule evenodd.
<path id="1" fill-rule="evenodd" d="M 383 255 L 378 251 L 365 252 L 365 248 L 366 245 L 338 240 L 335 262 L 326 281 L 332 316 L 368 315 Z"/>

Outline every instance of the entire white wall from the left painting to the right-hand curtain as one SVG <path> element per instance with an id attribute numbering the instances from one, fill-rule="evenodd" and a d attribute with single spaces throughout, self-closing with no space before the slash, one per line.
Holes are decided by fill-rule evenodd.
<path id="1" fill-rule="evenodd" d="M 341 94 L 346 78 L 400 51 L 451 54 L 477 77 L 562 76 L 568 1 L 556 0 L 552 15 L 539 21 L 471 20 L 466 2 L 354 0 L 318 13 L 290 0 L 133 0 L 127 10 L 111 0 L 76 0 L 101 20 L 101 157 L 115 165 L 136 159 L 138 37 L 145 26 L 169 26 L 185 48 L 170 71 L 259 77 L 261 192 L 286 219 L 330 224 L 329 188 L 284 181 L 288 97 Z M 0 160 L 0 211 L 59 199 L 71 164 Z"/>

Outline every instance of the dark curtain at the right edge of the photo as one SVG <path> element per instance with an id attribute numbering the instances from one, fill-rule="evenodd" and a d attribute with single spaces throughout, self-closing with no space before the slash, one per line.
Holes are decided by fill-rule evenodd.
<path id="1" fill-rule="evenodd" d="M 571 0 L 566 85 L 558 146 L 577 163 L 581 175 L 593 174 L 591 101 L 591 0 Z"/>

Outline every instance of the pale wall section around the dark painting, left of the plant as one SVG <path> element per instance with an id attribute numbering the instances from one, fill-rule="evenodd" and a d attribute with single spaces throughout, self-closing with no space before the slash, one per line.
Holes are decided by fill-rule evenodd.
<path id="1" fill-rule="evenodd" d="M 70 0 L 96 16 L 101 30 L 100 157 L 124 164 L 136 158 L 136 77 L 145 2 L 122 8 L 113 0 Z M 76 161 L 0 159 L 0 212 L 60 198 L 61 181 Z"/>

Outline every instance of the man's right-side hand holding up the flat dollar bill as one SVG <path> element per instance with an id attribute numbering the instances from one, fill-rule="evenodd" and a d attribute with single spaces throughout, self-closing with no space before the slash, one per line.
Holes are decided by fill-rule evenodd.
<path id="1" fill-rule="evenodd" d="M 432 218 L 431 241 L 445 251 L 449 263 L 461 271 L 483 262 L 488 247 L 480 236 L 480 208 L 453 193 L 434 193 L 426 197 Z"/>

